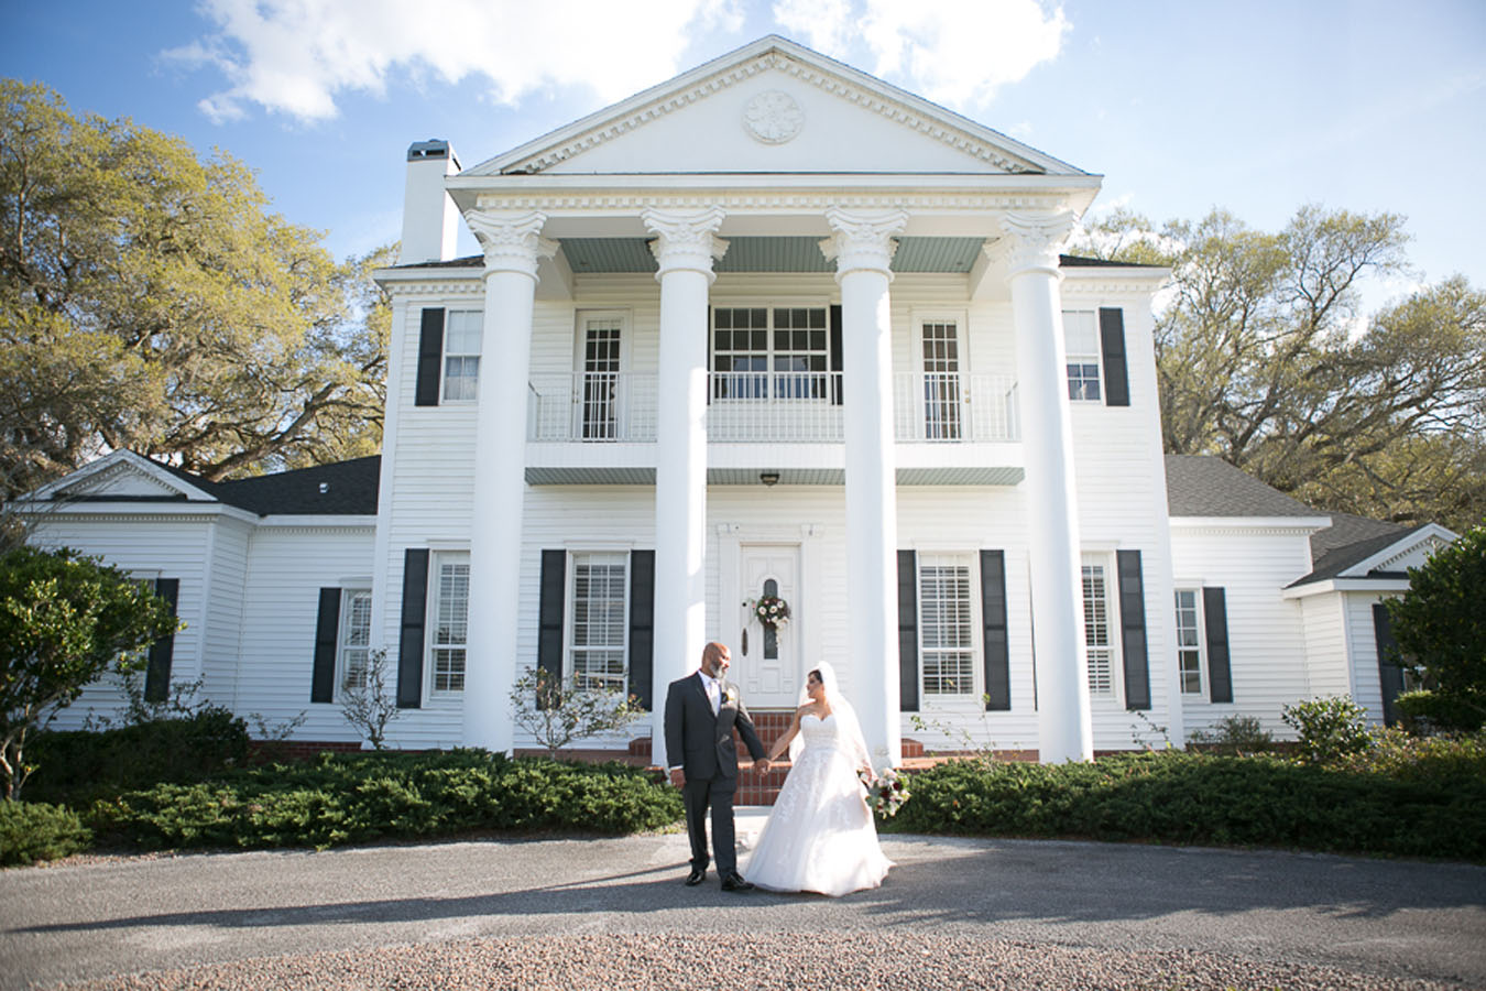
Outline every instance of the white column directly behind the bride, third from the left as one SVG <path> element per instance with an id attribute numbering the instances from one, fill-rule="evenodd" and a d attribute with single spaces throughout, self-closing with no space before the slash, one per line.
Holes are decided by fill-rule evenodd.
<path id="1" fill-rule="evenodd" d="M 887 293 L 908 214 L 832 207 L 820 244 L 841 285 L 846 382 L 847 608 L 851 695 L 877 768 L 902 762 L 898 694 L 898 472 L 893 456 L 892 312 Z"/>

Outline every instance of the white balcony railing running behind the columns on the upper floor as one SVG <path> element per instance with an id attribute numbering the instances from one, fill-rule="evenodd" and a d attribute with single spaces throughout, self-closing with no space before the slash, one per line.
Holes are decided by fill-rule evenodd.
<path id="1" fill-rule="evenodd" d="M 837 371 L 730 371 L 707 379 L 712 443 L 841 443 L 851 409 L 849 379 Z M 535 376 L 528 437 L 544 443 L 652 443 L 654 374 Z M 1019 438 L 1016 380 L 994 374 L 893 376 L 893 434 L 899 443 L 994 443 Z"/>

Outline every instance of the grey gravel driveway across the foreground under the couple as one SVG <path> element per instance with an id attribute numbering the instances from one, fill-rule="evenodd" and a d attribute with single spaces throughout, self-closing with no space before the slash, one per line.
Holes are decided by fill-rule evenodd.
<path id="1" fill-rule="evenodd" d="M 1486 988 L 1486 868 L 883 845 L 844 899 L 687 888 L 679 834 L 4 871 L 0 988 Z"/>

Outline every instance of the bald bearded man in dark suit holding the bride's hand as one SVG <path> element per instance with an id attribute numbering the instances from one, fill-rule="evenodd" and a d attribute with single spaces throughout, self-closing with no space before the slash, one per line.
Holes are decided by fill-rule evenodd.
<path id="1" fill-rule="evenodd" d="M 728 682 L 728 648 L 709 643 L 701 651 L 701 670 L 672 682 L 666 692 L 666 756 L 670 783 L 681 789 L 687 805 L 687 836 L 691 838 L 691 874 L 687 884 L 701 884 L 707 875 L 707 805 L 712 805 L 712 850 L 724 891 L 747 891 L 753 886 L 739 874 L 733 835 L 733 793 L 739 784 L 739 755 L 733 730 L 743 737 L 755 771 L 768 770 L 764 744 L 753 721 Z"/>

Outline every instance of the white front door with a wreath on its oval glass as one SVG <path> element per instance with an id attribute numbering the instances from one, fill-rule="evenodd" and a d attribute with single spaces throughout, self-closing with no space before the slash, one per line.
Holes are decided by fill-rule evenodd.
<path id="1" fill-rule="evenodd" d="M 794 709 L 799 703 L 799 545 L 743 544 L 739 547 L 739 640 L 733 676 L 750 709 Z M 773 630 L 749 608 L 761 596 L 779 596 L 792 618 Z"/>

